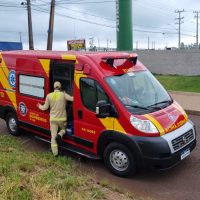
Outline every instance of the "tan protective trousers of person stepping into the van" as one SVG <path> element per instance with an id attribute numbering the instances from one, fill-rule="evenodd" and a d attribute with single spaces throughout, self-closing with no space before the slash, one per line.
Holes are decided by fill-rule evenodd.
<path id="1" fill-rule="evenodd" d="M 58 144 L 56 142 L 56 136 L 59 134 L 61 137 L 65 134 L 66 121 L 51 121 L 50 130 L 51 130 L 51 150 L 54 156 L 58 155 Z M 60 131 L 58 133 L 58 129 Z"/>

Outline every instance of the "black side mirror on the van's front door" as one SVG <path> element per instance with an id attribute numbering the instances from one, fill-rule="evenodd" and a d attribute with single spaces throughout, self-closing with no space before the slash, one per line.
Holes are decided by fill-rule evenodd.
<path id="1" fill-rule="evenodd" d="M 118 117 L 117 111 L 113 105 L 107 103 L 105 100 L 100 100 L 96 104 L 96 116 L 98 118 Z"/>

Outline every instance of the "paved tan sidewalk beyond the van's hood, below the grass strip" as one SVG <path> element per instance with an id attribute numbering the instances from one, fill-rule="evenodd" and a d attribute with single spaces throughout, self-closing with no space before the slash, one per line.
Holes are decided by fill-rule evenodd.
<path id="1" fill-rule="evenodd" d="M 200 93 L 169 91 L 188 114 L 200 115 Z"/>

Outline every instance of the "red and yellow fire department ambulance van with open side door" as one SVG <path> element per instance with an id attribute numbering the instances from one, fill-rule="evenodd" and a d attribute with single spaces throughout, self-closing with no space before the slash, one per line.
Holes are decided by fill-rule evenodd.
<path id="1" fill-rule="evenodd" d="M 138 167 L 170 168 L 196 146 L 194 124 L 136 54 L 0 53 L 0 117 L 12 135 L 28 130 L 50 142 L 49 111 L 37 103 L 60 81 L 74 96 L 62 147 L 103 159 L 118 176 Z"/>

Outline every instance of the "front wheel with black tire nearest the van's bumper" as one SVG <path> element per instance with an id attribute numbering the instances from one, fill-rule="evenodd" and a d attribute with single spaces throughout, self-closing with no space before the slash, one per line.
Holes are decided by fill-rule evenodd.
<path id="1" fill-rule="evenodd" d="M 133 176 L 136 173 L 133 154 L 123 144 L 112 142 L 104 151 L 105 166 L 115 175 Z"/>

